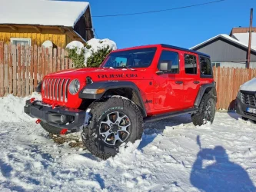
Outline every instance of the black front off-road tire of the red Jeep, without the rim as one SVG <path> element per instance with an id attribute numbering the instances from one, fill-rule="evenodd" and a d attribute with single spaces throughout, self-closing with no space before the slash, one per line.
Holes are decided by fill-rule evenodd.
<path id="1" fill-rule="evenodd" d="M 128 143 L 129 141 L 135 143 L 135 141 L 141 139 L 143 118 L 141 111 L 134 102 L 121 96 L 112 96 L 111 98 L 95 101 L 88 108 L 91 109 L 91 121 L 87 127 L 83 128 L 81 138 L 88 151 L 96 157 L 105 160 L 118 154 L 120 144 L 108 145 L 100 134 L 100 124 L 104 117 L 108 114 L 115 113 L 115 111 L 126 114 L 131 123 L 131 128 L 129 127 L 130 134 L 124 143 Z"/>

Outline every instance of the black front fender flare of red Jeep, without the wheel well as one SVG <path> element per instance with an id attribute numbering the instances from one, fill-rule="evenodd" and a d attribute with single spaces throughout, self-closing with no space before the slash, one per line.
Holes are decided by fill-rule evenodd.
<path id="1" fill-rule="evenodd" d="M 93 99 L 98 100 L 102 98 L 106 91 L 111 89 L 118 88 L 129 88 L 132 90 L 133 97 L 135 99 L 135 104 L 141 110 L 142 116 L 147 117 L 147 111 L 145 109 L 145 104 L 141 98 L 141 93 L 137 87 L 137 85 L 131 81 L 98 81 L 91 84 L 86 84 L 84 88 L 79 91 L 78 97 L 81 99 Z M 98 89 L 104 89 L 104 91 L 100 94 L 97 94 L 96 91 Z M 133 99 L 131 100 L 133 101 Z"/>

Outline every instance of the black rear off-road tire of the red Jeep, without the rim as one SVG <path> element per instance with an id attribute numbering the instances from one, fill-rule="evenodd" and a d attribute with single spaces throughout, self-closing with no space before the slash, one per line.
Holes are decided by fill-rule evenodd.
<path id="1" fill-rule="evenodd" d="M 205 111 L 207 108 L 208 101 L 212 102 L 213 108 L 211 111 L 211 116 L 206 118 Z M 201 104 L 199 105 L 199 111 L 197 113 L 191 114 L 191 119 L 194 126 L 201 126 L 202 124 L 206 124 L 207 121 L 210 121 L 212 124 L 215 116 L 215 106 L 216 101 L 214 99 L 214 96 L 212 94 L 204 94 L 203 98 L 201 99 Z"/>

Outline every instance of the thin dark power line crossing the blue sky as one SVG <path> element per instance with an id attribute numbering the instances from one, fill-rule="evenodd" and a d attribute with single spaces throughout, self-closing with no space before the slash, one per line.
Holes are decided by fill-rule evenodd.
<path id="1" fill-rule="evenodd" d="M 136 12 L 136 13 L 117 14 L 117 15 L 96 15 L 96 16 L 92 16 L 92 17 L 93 18 L 106 18 L 106 17 L 118 17 L 118 16 L 128 16 L 128 15 L 142 15 L 142 14 L 155 13 L 155 12 L 167 12 L 167 11 L 172 11 L 172 10 L 181 9 L 181 8 L 191 8 L 191 7 L 208 5 L 208 4 L 212 4 L 212 3 L 216 3 L 216 2 L 224 2 L 224 1 L 225 0 L 218 0 L 218 1 L 214 1 L 214 2 L 205 2 L 205 3 L 201 3 L 201 4 L 188 5 L 188 6 L 178 7 L 178 8 L 161 9 L 161 10 L 155 10 L 155 11 L 150 11 L 150 12 Z"/>

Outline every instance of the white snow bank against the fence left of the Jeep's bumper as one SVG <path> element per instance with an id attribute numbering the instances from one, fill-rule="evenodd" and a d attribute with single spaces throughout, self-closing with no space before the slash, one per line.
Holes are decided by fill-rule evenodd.
<path id="1" fill-rule="evenodd" d="M 30 98 L 36 98 L 41 101 L 41 95 L 38 93 L 33 93 L 32 96 L 25 98 L 18 98 L 12 94 L 0 98 L 0 121 L 34 121 L 24 112 L 25 101 Z"/>

